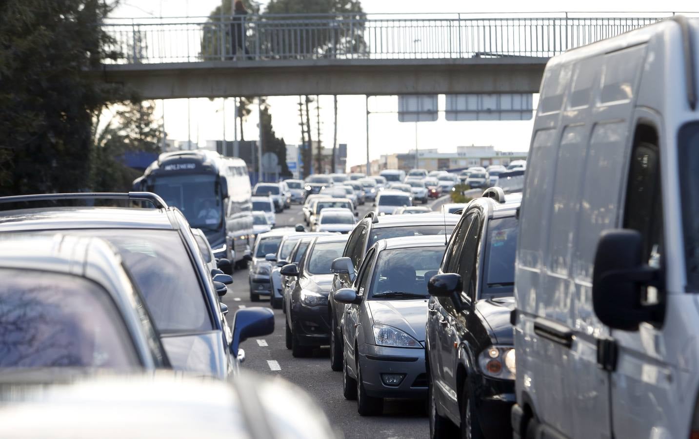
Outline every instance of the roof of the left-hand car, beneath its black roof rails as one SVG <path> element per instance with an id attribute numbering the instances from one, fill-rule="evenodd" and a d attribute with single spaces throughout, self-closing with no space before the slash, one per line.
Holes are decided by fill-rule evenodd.
<path id="1" fill-rule="evenodd" d="M 55 207 L 8 210 L 0 232 L 59 229 L 176 229 L 168 211 L 175 208 Z"/>

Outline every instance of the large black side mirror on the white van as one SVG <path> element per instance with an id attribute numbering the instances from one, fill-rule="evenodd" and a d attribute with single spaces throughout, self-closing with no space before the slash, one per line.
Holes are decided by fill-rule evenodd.
<path id="1" fill-rule="evenodd" d="M 592 275 L 592 304 L 600 322 L 612 329 L 637 331 L 642 322 L 663 324 L 664 301 L 644 305 L 648 287 L 661 289 L 661 271 L 642 261 L 641 233 L 612 229 L 600 235 Z"/>

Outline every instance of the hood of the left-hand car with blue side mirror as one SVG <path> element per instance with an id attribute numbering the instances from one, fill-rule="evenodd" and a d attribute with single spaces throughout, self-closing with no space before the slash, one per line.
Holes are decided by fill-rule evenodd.
<path id="1" fill-rule="evenodd" d="M 226 353 L 221 331 L 161 336 L 170 363 L 175 370 L 226 377 Z"/>

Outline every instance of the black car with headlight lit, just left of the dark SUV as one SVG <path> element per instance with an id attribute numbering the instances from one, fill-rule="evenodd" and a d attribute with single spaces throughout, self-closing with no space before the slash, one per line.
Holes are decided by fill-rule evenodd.
<path id="1" fill-rule="evenodd" d="M 331 264 L 340 257 L 347 235 L 319 236 L 310 243 L 301 261 L 282 267 L 282 275 L 297 277 L 284 300 L 287 309 L 287 349 L 303 357 L 313 347 L 330 343 L 328 295 L 333 282 Z"/>

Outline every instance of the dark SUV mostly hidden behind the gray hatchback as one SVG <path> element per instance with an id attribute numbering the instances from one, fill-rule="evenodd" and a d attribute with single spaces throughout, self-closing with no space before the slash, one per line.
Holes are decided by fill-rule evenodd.
<path id="1" fill-rule="evenodd" d="M 347 239 L 343 257 L 333 261 L 332 292 L 352 287 L 356 272 L 367 250 L 380 239 L 406 236 L 449 235 L 454 230 L 458 215 L 420 213 L 417 215 L 375 215 L 368 213 Z M 446 240 L 447 238 L 445 238 Z M 332 331 L 330 333 L 330 366 L 333 370 L 343 367 L 343 345 L 340 338 L 340 319 L 345 305 L 336 303 L 332 294 L 328 301 Z"/>

